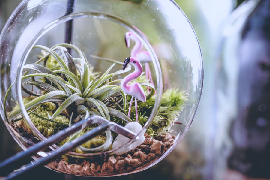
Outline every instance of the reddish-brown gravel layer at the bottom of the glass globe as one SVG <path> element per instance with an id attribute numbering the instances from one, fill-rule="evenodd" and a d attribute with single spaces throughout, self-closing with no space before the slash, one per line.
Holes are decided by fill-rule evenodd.
<path id="1" fill-rule="evenodd" d="M 79 176 L 109 176 L 137 171 L 164 154 L 173 145 L 175 139 L 175 136 L 169 133 L 161 134 L 154 139 L 147 133 L 144 136 L 143 144 L 120 156 L 101 157 L 98 155 L 97 157 L 91 157 L 91 159 L 83 159 L 83 161 L 76 158 L 67 161 L 57 159 L 47 166 L 63 173 Z M 68 161 L 73 161 L 73 163 Z M 76 161 L 78 163 L 75 163 Z"/>

